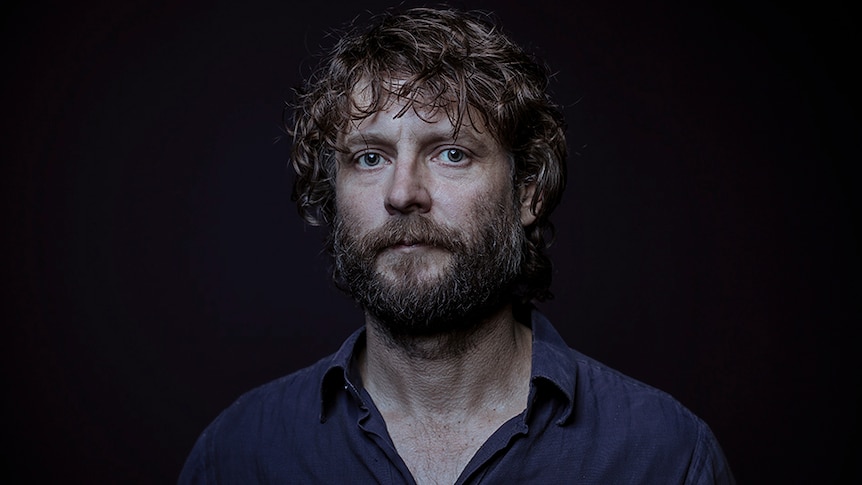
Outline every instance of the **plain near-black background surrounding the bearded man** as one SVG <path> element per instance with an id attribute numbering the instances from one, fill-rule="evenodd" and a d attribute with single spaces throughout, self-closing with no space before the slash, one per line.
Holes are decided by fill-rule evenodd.
<path id="1" fill-rule="evenodd" d="M 859 19 L 783 3 L 454 4 L 556 72 L 540 308 L 570 345 L 703 417 L 741 483 L 850 482 Z M 279 124 L 326 32 L 387 4 L 6 6 L 4 482 L 172 483 L 240 393 L 362 324 Z"/>

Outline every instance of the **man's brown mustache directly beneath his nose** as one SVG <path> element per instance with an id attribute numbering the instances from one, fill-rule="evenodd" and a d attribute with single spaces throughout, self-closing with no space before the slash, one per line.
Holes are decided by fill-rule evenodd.
<path id="1" fill-rule="evenodd" d="M 451 252 L 464 251 L 467 247 L 460 234 L 422 216 L 390 219 L 365 234 L 360 244 L 375 254 L 400 244 L 425 244 Z"/>

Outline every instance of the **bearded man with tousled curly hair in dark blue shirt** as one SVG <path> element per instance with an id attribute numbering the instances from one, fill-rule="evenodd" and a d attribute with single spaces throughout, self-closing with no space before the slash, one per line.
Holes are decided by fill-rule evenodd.
<path id="1" fill-rule="evenodd" d="M 478 14 L 337 43 L 294 107 L 294 196 L 366 326 L 225 410 L 181 483 L 733 483 L 702 421 L 532 306 L 565 181 L 546 84 Z"/>

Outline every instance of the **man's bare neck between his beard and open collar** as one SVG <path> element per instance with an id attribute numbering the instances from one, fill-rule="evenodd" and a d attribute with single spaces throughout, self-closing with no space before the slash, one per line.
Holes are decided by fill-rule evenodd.
<path id="1" fill-rule="evenodd" d="M 446 418 L 526 408 L 532 334 L 510 306 L 446 335 L 398 337 L 368 317 L 365 388 L 386 414 Z"/>

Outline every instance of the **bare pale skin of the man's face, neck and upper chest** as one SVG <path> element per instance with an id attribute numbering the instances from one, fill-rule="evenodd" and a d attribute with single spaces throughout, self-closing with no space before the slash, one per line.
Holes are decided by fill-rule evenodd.
<path id="1" fill-rule="evenodd" d="M 347 152 L 336 173 L 343 217 L 365 231 L 389 218 L 427 217 L 470 233 L 477 208 L 511 203 L 511 161 L 487 130 L 465 124 L 455 139 L 445 113 L 419 116 L 411 108 L 396 117 L 402 107 L 392 102 L 343 135 Z M 535 221 L 532 190 L 519 194 L 522 225 Z M 403 274 L 395 270 L 397 263 L 413 258 L 414 281 L 433 284 L 450 257 L 444 249 L 402 241 L 379 255 L 376 270 L 398 284 Z M 399 455 L 417 483 L 454 483 L 488 437 L 526 408 L 529 328 L 505 305 L 469 334 L 417 337 L 399 345 L 385 338 L 385 322 L 368 314 L 366 320 L 360 374 Z M 470 342 L 462 352 L 444 351 L 452 339 Z"/>

